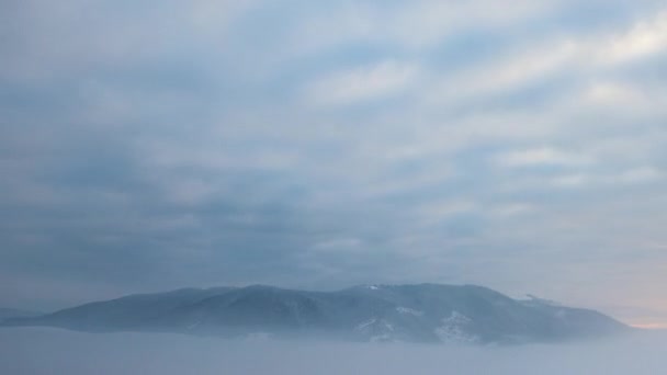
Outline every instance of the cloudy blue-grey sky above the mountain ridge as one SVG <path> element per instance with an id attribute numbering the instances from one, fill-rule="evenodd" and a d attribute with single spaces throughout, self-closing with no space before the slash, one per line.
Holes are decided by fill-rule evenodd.
<path id="1" fill-rule="evenodd" d="M 667 327 L 654 0 L 0 2 L 0 306 L 485 285 Z"/>

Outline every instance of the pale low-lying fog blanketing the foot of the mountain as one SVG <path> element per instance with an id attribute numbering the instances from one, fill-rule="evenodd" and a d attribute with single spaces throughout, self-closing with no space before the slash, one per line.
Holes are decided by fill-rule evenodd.
<path id="1" fill-rule="evenodd" d="M 0 329 L 0 374 L 667 374 L 667 332 L 519 346 L 231 341 Z"/>

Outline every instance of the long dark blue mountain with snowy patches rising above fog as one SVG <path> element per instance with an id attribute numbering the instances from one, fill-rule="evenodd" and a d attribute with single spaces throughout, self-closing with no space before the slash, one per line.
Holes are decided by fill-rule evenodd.
<path id="1" fill-rule="evenodd" d="M 600 312 L 475 285 L 365 285 L 309 292 L 255 285 L 95 302 L 3 326 L 354 341 L 552 342 L 630 330 Z"/>

